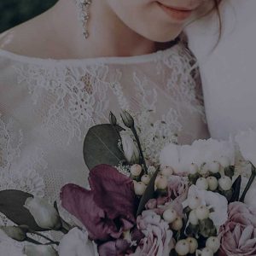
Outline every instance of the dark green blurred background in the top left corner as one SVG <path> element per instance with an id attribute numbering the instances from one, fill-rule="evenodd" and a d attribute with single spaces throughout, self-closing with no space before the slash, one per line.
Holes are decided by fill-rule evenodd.
<path id="1" fill-rule="evenodd" d="M 0 33 L 42 14 L 57 0 L 0 0 Z"/>

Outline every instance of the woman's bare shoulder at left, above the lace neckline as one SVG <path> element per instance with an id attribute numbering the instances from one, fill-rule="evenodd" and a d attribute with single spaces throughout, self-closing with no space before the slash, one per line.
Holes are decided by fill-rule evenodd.
<path id="1" fill-rule="evenodd" d="M 18 55 L 47 57 L 50 46 L 46 42 L 53 38 L 54 34 L 50 11 L 47 11 L 0 34 L 0 49 Z"/>

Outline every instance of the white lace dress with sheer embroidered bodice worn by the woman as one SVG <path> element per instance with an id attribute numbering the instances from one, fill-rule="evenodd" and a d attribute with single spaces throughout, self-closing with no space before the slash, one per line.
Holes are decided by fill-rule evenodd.
<path id="1" fill-rule="evenodd" d="M 85 186 L 84 136 L 129 110 L 146 155 L 207 137 L 195 60 L 183 43 L 150 55 L 44 60 L 0 50 L 0 189 L 50 201 Z M 5 218 L 0 222 L 7 224 Z"/>

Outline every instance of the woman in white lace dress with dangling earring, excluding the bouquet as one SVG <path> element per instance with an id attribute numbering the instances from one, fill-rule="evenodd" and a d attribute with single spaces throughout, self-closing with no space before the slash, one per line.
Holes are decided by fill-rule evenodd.
<path id="1" fill-rule="evenodd" d="M 110 110 L 135 116 L 156 163 L 165 143 L 208 137 L 195 58 L 177 37 L 217 7 L 214 0 L 60 0 L 4 32 L 0 189 L 55 201 L 65 183 L 85 186 L 84 136 L 108 122 Z"/>

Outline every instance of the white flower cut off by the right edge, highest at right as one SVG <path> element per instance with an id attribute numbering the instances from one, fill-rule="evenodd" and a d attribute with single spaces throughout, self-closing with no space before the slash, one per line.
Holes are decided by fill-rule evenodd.
<path id="1" fill-rule="evenodd" d="M 240 148 L 242 157 L 256 166 L 256 131 L 241 131 L 236 135 L 235 141 Z"/>

